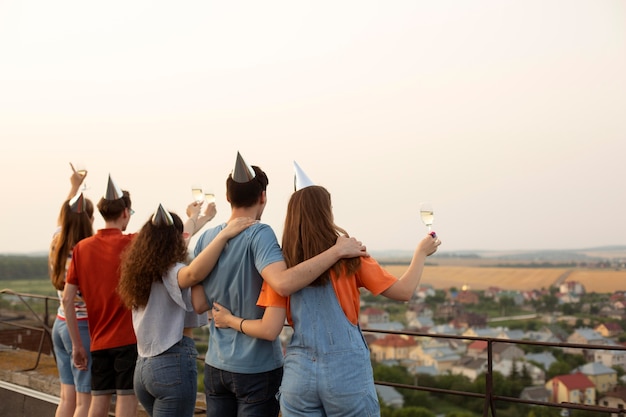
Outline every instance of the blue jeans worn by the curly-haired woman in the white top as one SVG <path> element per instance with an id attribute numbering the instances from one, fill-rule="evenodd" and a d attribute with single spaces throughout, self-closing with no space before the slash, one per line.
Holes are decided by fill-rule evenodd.
<path id="1" fill-rule="evenodd" d="M 192 339 L 151 358 L 137 358 L 135 395 L 152 417 L 191 417 L 198 391 L 198 351 Z"/>

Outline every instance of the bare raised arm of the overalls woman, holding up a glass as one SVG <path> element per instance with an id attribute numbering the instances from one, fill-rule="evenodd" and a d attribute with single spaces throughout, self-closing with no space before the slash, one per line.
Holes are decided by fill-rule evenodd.
<path id="1" fill-rule="evenodd" d="M 428 234 L 422 239 L 415 248 L 411 264 L 404 274 L 402 274 L 402 277 L 391 287 L 383 291 L 382 294 L 393 300 L 409 301 L 422 279 L 426 257 L 435 253 L 439 245 L 441 245 L 441 241 L 436 236 Z"/>

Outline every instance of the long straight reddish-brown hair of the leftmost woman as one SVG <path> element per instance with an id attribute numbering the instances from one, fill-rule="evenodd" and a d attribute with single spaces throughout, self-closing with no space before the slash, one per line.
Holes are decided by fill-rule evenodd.
<path id="1" fill-rule="evenodd" d="M 50 281 L 57 290 L 65 288 L 65 269 L 74 245 L 93 235 L 93 203 L 87 198 L 84 202 L 85 209 L 81 213 L 72 211 L 70 200 L 65 200 L 61 206 L 61 232 L 52 240 L 48 255 Z"/>

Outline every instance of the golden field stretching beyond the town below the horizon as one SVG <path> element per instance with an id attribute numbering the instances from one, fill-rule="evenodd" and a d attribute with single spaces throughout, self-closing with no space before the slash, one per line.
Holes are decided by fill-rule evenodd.
<path id="1" fill-rule="evenodd" d="M 407 265 L 385 265 L 387 271 L 400 277 Z M 449 287 L 484 290 L 498 287 L 507 290 L 533 290 L 548 288 L 559 278 L 578 281 L 587 292 L 612 293 L 626 290 L 626 270 L 569 269 L 569 268 L 508 268 L 479 266 L 426 266 L 422 284 L 436 289 Z"/>

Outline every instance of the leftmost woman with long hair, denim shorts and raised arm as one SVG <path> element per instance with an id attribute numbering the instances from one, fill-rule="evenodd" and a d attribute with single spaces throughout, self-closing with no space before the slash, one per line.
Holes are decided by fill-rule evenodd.
<path id="1" fill-rule="evenodd" d="M 72 164 L 70 164 L 72 166 Z M 48 255 L 49 275 L 52 285 L 57 290 L 59 300 L 63 299 L 65 276 L 72 261 L 72 249 L 80 240 L 93 235 L 93 203 L 84 198 L 78 189 L 86 174 L 79 174 L 72 166 L 70 192 L 61 206 L 57 229 L 52 237 Z M 87 307 L 80 293 L 73 303 L 78 319 L 78 332 L 83 345 L 89 350 L 89 327 L 87 325 Z M 65 309 L 59 303 L 57 316 L 52 326 L 52 346 L 56 358 L 61 394 L 55 417 L 87 416 L 91 403 L 91 371 L 74 366 L 72 361 L 72 340 L 70 339 Z M 91 358 L 87 358 L 91 362 Z"/>

